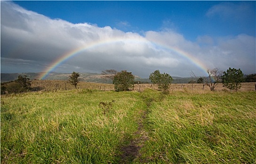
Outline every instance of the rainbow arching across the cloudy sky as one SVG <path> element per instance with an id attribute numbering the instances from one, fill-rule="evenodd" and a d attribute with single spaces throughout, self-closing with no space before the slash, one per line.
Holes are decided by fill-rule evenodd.
<path id="1" fill-rule="evenodd" d="M 97 47 L 100 47 L 100 46 L 103 46 L 103 45 L 110 45 L 110 44 L 113 44 L 113 43 L 118 43 L 118 42 L 135 43 L 135 44 L 150 44 L 154 47 L 162 47 L 162 48 L 165 48 L 165 49 L 170 50 L 172 52 L 176 52 L 179 55 L 181 55 L 181 56 L 187 58 L 188 60 L 192 61 L 192 63 L 194 63 L 197 67 L 199 67 L 203 72 L 206 72 L 206 70 L 207 70 L 207 67 L 200 60 L 194 58 L 191 54 L 189 54 L 187 52 L 184 52 L 184 51 L 182 51 L 178 48 L 170 47 L 168 45 L 158 44 L 156 42 L 149 41 L 149 40 L 147 40 L 145 38 L 142 38 L 142 37 L 133 38 L 133 39 L 130 39 L 130 38 L 129 39 L 127 39 L 127 38 L 111 38 L 111 39 L 105 39 L 105 40 L 91 42 L 88 45 L 81 46 L 79 48 L 73 49 L 70 52 L 65 53 L 64 55 L 62 55 L 62 57 L 55 60 L 53 63 L 51 63 L 49 65 L 49 67 L 47 67 L 45 70 L 43 70 L 39 79 L 45 79 L 51 72 L 54 71 L 54 69 L 56 69 L 56 67 L 60 66 L 65 61 L 71 59 L 72 57 L 79 54 L 80 52 L 83 52 L 83 51 L 86 51 L 86 50 L 89 50 L 89 49 L 93 49 L 93 48 L 97 48 Z"/>

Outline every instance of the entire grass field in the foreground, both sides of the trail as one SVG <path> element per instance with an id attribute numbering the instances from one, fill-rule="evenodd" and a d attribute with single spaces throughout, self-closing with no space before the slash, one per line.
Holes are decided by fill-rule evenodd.
<path id="1" fill-rule="evenodd" d="M 2 164 L 253 164 L 256 92 L 4 95 L 0 157 Z"/>

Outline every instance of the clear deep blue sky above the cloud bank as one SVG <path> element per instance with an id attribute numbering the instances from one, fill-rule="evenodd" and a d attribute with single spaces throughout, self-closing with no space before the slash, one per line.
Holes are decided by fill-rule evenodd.
<path id="1" fill-rule="evenodd" d="M 255 1 L 15 1 L 20 6 L 72 23 L 89 22 L 141 33 L 172 28 L 195 40 L 199 35 L 255 36 Z M 209 9 L 223 4 L 223 10 Z M 240 13 L 236 14 L 236 10 Z M 217 10 L 217 9 L 216 9 Z M 246 11 L 246 12 L 244 12 Z"/>

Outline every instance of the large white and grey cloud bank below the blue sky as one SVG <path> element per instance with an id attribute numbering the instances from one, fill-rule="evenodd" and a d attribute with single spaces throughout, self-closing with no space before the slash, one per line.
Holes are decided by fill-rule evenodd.
<path id="1" fill-rule="evenodd" d="M 212 11 L 213 12 L 213 11 Z M 123 32 L 90 23 L 73 24 L 1 1 L 1 72 L 41 72 L 68 52 L 87 47 L 56 72 L 127 69 L 148 77 L 156 69 L 173 76 L 202 75 L 202 68 L 241 68 L 255 73 L 255 37 L 238 35 L 186 40 L 173 30 Z M 189 58 L 188 58 L 189 57 Z"/>

